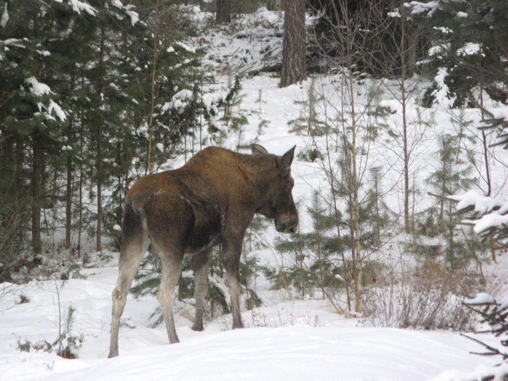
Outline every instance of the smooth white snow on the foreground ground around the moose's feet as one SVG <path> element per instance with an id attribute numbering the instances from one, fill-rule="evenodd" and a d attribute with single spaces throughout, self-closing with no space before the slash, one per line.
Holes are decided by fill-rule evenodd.
<path id="1" fill-rule="evenodd" d="M 120 329 L 120 356 L 107 359 L 111 290 L 117 255 L 83 271 L 86 279 L 34 281 L 16 293 L 29 300 L 0 315 L 0 379 L 45 380 L 406 380 L 449 370 L 471 371 L 494 359 L 469 354 L 478 345 L 455 332 L 374 328 L 344 319 L 320 300 L 288 301 L 245 311 L 246 329 L 231 330 L 229 316 L 190 329 L 192 308 L 175 306 L 178 344 L 164 325 L 149 328 L 154 298 L 129 299 Z M 18 339 L 53 341 L 60 307 L 75 309 L 72 332 L 83 334 L 79 358 L 20 352 Z M 10 306 L 9 301 L 0 309 Z M 495 343 L 495 340 L 489 342 Z"/>

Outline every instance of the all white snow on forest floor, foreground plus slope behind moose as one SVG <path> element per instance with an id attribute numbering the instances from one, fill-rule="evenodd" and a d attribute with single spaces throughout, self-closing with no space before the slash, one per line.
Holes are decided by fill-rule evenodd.
<path id="1" fill-rule="evenodd" d="M 196 12 L 196 22 L 204 22 L 209 16 Z M 265 10 L 235 20 L 238 33 L 206 29 L 202 38 L 196 39 L 195 45 L 203 41 L 210 44 L 204 65 L 216 74 L 217 84 L 211 87 L 218 92 L 226 91 L 221 90 L 221 85 L 227 82 L 228 65 L 247 72 L 273 65 L 280 56 L 281 21 L 281 15 Z M 274 32 L 277 28 L 278 34 Z M 198 44 L 198 41 L 201 42 Z M 189 42 L 189 45 L 192 43 Z M 266 51 L 270 52 L 268 56 L 262 53 Z M 337 97 L 335 82 L 336 75 L 319 78 L 321 91 L 329 93 L 332 101 Z M 364 102 L 368 92 L 367 82 L 358 97 L 359 104 Z M 277 85 L 278 78 L 269 75 L 242 81 L 244 98 L 241 108 L 249 123 L 241 136 L 229 135 L 223 146 L 234 148 L 240 140 L 249 142 L 257 137 L 270 152 L 281 154 L 295 144 L 297 153 L 308 145 L 308 137 L 290 134 L 288 127 L 288 121 L 300 115 L 300 106 L 295 101 L 305 99 L 308 81 L 283 89 Z M 393 83 L 392 88 L 396 86 Z M 260 90 L 261 104 L 257 102 Z M 419 94 L 415 93 L 415 97 Z M 383 106 L 398 110 L 397 100 L 389 91 L 381 98 Z M 259 109 L 259 113 L 252 111 Z M 414 103 L 411 115 L 416 118 L 418 110 L 424 118 L 428 117 L 430 124 L 425 131 L 418 123 L 410 130 L 410 139 L 417 143 L 412 153 L 416 159 L 412 162 L 411 171 L 418 174 L 415 186 L 423 195 L 416 203 L 423 209 L 433 202 L 425 192 L 428 190 L 425 179 L 435 166 L 435 159 L 430 154 L 436 151 L 437 139 L 443 132 L 453 133 L 456 129 L 446 110 L 421 109 Z M 465 112 L 478 120 L 478 110 Z M 399 115 L 393 114 L 386 122 L 400 125 L 397 120 Z M 268 125 L 259 135 L 258 125 L 262 119 L 266 119 Z M 474 131 L 473 126 L 470 129 Z M 317 142 L 321 143 L 322 140 Z M 384 186 L 393 190 L 387 193 L 386 200 L 391 210 L 400 210 L 402 203 L 399 144 L 397 140 L 380 139 L 379 144 L 370 147 L 368 158 L 371 163 L 384 166 Z M 481 156 L 481 152 L 476 153 Z M 498 155 L 505 154 L 503 151 Z M 507 170 L 499 163 L 502 163 L 499 158 L 494 161 L 492 177 L 494 195 L 502 197 Z M 183 158 L 179 157 L 168 163 L 167 168 L 182 164 Z M 365 164 L 366 167 L 368 165 Z M 318 167 L 315 163 L 296 160 L 293 166 L 295 200 L 307 202 L 312 190 L 319 188 L 322 177 Z M 309 219 L 304 215 L 301 217 L 304 229 L 309 226 Z M 265 234 L 266 241 L 273 242 L 276 234 L 273 227 L 270 228 Z M 110 254 L 111 260 L 101 260 L 97 253 L 90 255 L 97 267 L 82 271 L 86 279 L 70 279 L 63 285 L 61 281 L 50 280 L 33 280 L 22 285 L 0 284 L 0 293 L 3 287 L 12 291 L 0 304 L 0 311 L 4 310 L 0 312 L 0 380 L 423 381 L 449 369 L 473 371 L 477 366 L 496 363 L 495 359 L 470 354 L 470 351 L 481 351 L 481 348 L 459 333 L 372 327 L 363 319 L 345 319 L 322 300 L 286 300 L 282 293 L 270 291 L 263 277 L 257 281 L 263 307 L 243 312 L 247 327 L 244 330 L 230 330 L 230 316 L 226 315 L 207 322 L 205 331 L 194 332 L 190 329 L 192 321 L 189 319 L 193 316 L 192 308 L 176 302 L 176 326 L 181 342 L 173 345 L 168 345 L 164 324 L 149 328 L 153 323 L 149 319 L 150 314 L 158 306 L 155 298 L 129 298 L 120 329 L 120 357 L 106 359 L 111 291 L 118 273 L 118 253 Z M 280 265 L 273 250 L 262 250 L 259 255 L 263 264 Z M 401 253 L 395 252 L 393 256 L 397 262 Z M 500 257 L 497 267 L 489 266 L 485 271 L 496 272 L 505 269 L 506 265 L 506 258 Z M 502 297 L 506 290 L 500 289 Z M 24 295 L 27 302 L 19 303 L 20 295 Z M 19 350 L 18 342 L 25 340 L 33 343 L 42 339 L 54 341 L 58 335 L 59 306 L 61 311 L 65 311 L 69 305 L 75 308 L 72 333 L 83 338 L 77 359 L 63 359 L 44 351 Z M 482 339 L 491 344 L 497 342 L 494 338 Z"/>

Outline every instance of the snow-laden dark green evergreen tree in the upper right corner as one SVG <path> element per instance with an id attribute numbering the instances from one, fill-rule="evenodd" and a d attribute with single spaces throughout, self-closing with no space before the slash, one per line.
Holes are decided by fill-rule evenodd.
<path id="1" fill-rule="evenodd" d="M 508 51 L 505 2 L 442 0 L 426 8 L 415 3 L 407 11 L 432 32 L 427 59 L 436 76 L 426 93 L 427 104 L 459 107 L 481 103 L 473 94 L 474 88 L 487 91 L 493 99 L 505 100 L 500 85 L 507 80 L 503 59 Z"/>

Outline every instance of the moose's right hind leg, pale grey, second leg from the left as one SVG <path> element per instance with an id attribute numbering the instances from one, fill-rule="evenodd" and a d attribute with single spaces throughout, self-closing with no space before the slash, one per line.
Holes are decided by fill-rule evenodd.
<path id="1" fill-rule="evenodd" d="M 180 277 L 180 269 L 182 266 L 182 257 L 168 258 L 159 256 L 162 264 L 161 285 L 157 292 L 157 301 L 161 305 L 168 338 L 171 344 L 180 342 L 175 330 L 175 322 L 173 320 L 173 299 L 175 297 L 175 287 Z"/>

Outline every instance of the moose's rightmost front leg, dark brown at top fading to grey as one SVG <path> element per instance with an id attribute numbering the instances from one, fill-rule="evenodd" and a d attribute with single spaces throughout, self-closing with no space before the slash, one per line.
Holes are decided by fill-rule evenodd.
<path id="1" fill-rule="evenodd" d="M 243 235 L 241 238 L 225 239 L 223 243 L 224 267 L 228 278 L 228 289 L 231 298 L 231 312 L 233 314 L 233 329 L 243 328 L 240 314 L 240 256 L 242 253 Z"/>

